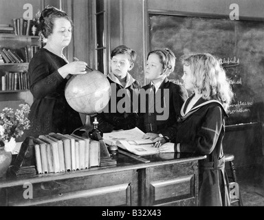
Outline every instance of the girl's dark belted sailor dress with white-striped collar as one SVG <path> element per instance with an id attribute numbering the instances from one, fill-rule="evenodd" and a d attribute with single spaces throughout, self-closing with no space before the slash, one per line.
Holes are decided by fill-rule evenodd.
<path id="1" fill-rule="evenodd" d="M 230 206 L 222 146 L 225 117 L 228 115 L 220 102 L 203 98 L 186 113 L 186 107 L 193 96 L 181 108 L 173 140 L 175 152 L 207 156 L 199 161 L 199 206 Z"/>

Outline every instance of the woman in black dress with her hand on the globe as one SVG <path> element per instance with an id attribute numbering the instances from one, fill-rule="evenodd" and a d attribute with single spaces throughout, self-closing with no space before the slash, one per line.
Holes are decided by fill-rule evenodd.
<path id="1" fill-rule="evenodd" d="M 65 85 L 71 74 L 86 74 L 87 63 L 69 63 L 63 56 L 63 49 L 72 39 L 72 20 L 65 12 L 47 6 L 38 24 L 42 48 L 34 54 L 28 68 L 34 102 L 27 135 L 72 133 L 82 126 L 82 121 L 65 99 Z"/>

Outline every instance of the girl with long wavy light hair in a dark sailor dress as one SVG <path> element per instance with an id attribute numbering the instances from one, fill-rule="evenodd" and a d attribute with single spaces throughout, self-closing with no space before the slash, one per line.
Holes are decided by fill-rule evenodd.
<path id="1" fill-rule="evenodd" d="M 161 153 L 199 153 L 199 206 L 230 206 L 222 140 L 225 111 L 232 90 L 217 58 L 195 54 L 181 59 L 184 86 L 194 91 L 181 107 L 173 142 L 159 146 Z"/>

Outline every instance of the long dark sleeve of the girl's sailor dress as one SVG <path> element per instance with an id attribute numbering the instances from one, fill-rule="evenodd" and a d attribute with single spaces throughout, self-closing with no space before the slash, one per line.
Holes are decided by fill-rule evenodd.
<path id="1" fill-rule="evenodd" d="M 222 115 L 221 107 L 208 108 L 203 123 L 201 123 L 201 126 L 196 131 L 195 139 L 184 140 L 184 142 L 175 140 L 175 152 L 201 153 L 206 155 L 212 153 L 223 126 Z"/>

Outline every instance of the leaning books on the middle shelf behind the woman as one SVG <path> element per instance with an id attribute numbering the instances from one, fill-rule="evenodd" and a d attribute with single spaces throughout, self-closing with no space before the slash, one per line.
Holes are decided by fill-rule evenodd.
<path id="1" fill-rule="evenodd" d="M 0 48 L 1 63 L 29 63 L 34 54 L 39 50 L 38 45 L 26 45 L 17 51 L 9 48 Z"/>

